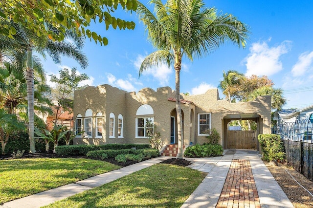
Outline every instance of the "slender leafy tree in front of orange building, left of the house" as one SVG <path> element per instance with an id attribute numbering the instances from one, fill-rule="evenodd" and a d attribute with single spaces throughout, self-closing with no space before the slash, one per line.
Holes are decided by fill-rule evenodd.
<path id="1" fill-rule="evenodd" d="M 59 71 L 60 78 L 55 75 L 50 75 L 50 81 L 57 84 L 54 89 L 53 97 L 58 101 L 55 113 L 55 123 L 57 123 L 61 113 L 67 111 L 72 113 L 73 111 L 73 97 L 74 90 L 78 88 L 78 84 L 81 81 L 87 80 L 89 77 L 86 74 L 77 75 L 77 70 L 72 68 L 64 68 Z"/>

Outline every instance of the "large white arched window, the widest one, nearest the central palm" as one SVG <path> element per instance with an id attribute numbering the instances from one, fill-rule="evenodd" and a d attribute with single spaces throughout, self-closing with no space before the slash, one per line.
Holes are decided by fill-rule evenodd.
<path id="1" fill-rule="evenodd" d="M 150 105 L 141 105 L 136 112 L 136 138 L 149 138 L 153 132 L 154 111 Z"/>

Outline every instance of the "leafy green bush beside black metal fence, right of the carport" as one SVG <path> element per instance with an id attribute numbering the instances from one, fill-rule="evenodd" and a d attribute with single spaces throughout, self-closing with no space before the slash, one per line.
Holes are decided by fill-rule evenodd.
<path id="1" fill-rule="evenodd" d="M 285 147 L 280 135 L 259 134 L 258 140 L 263 151 L 263 159 L 284 162 L 286 159 Z"/>

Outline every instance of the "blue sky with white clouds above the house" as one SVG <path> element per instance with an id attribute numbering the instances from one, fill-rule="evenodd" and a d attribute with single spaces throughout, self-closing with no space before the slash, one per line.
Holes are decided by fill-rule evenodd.
<path id="1" fill-rule="evenodd" d="M 142 0 L 141 2 L 146 2 Z M 207 7 L 221 13 L 230 13 L 250 27 L 250 37 L 245 49 L 225 43 L 210 55 L 193 62 L 182 59 L 180 92 L 205 93 L 217 88 L 223 70 L 237 70 L 247 76 L 266 75 L 282 88 L 287 98 L 284 108 L 304 108 L 313 105 L 313 1 L 311 0 L 204 0 Z M 109 39 L 108 46 L 100 46 L 86 39 L 83 48 L 89 67 L 82 70 L 69 58 L 54 64 L 50 58 L 44 63 L 47 75 L 58 74 L 63 68 L 76 67 L 86 73 L 89 80 L 82 84 L 93 86 L 110 84 L 128 92 L 145 87 L 154 90 L 170 86 L 175 89 L 173 68 L 159 66 L 138 78 L 143 58 L 155 48 L 147 39 L 144 25 L 135 13 L 116 12 L 115 17 L 132 20 L 134 30 L 105 30 L 96 23 L 92 29 Z M 50 84 L 50 83 L 49 83 Z M 220 93 L 220 97 L 224 95 Z"/>

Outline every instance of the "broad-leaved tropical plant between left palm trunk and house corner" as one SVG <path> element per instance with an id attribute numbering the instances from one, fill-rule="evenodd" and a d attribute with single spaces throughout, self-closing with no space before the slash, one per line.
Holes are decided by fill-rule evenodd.
<path id="1" fill-rule="evenodd" d="M 35 128 L 35 133 L 38 135 L 37 138 L 43 138 L 49 142 L 52 142 L 54 145 L 53 153 L 55 153 L 55 148 L 58 146 L 58 142 L 67 134 L 69 130 L 66 130 L 66 126 L 54 125 L 53 129 L 50 131 L 42 129 L 41 131 L 38 128 Z"/>

